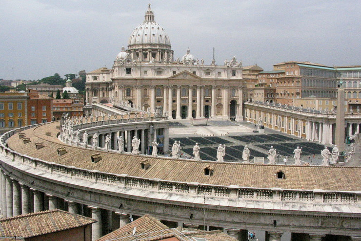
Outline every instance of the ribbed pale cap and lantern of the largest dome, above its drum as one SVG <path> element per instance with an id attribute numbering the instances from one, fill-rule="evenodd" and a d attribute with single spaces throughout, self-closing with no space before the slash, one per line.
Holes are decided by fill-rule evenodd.
<path id="1" fill-rule="evenodd" d="M 150 8 L 145 12 L 145 20 L 133 30 L 129 37 L 128 47 L 135 44 L 161 44 L 170 45 L 169 37 L 157 22 L 154 21 L 154 14 Z"/>

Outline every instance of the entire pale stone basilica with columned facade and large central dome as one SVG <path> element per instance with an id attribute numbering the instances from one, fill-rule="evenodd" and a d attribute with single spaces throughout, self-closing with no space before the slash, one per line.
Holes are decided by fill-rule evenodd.
<path id="1" fill-rule="evenodd" d="M 213 118 L 241 121 L 242 65 L 235 57 L 218 66 L 204 64 L 188 49 L 174 57 L 170 39 L 154 20 L 145 20 L 122 47 L 112 69 L 87 73 L 86 102 L 124 103 L 154 111 L 160 106 L 170 119 Z"/>

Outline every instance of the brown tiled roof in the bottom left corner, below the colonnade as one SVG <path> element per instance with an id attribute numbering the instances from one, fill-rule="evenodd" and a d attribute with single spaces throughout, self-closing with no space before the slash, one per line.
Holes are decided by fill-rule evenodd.
<path id="1" fill-rule="evenodd" d="M 97 222 L 59 209 L 0 219 L 0 236 L 30 238 Z"/>

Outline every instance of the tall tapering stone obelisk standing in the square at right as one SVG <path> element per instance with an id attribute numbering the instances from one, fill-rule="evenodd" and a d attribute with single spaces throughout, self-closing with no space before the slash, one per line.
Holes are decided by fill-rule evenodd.
<path id="1" fill-rule="evenodd" d="M 336 129 L 335 129 L 335 145 L 341 152 L 345 151 L 345 91 L 342 88 L 337 90 L 337 109 L 336 109 Z"/>

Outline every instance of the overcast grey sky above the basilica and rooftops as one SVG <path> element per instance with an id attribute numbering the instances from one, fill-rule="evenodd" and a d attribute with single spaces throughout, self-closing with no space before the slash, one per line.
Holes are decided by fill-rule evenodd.
<path id="1" fill-rule="evenodd" d="M 149 2 L 175 58 L 361 65 L 360 0 L 1 0 L 0 78 L 111 68 Z"/>

